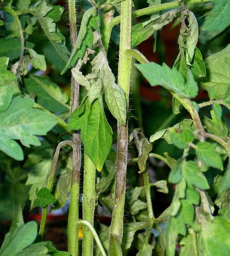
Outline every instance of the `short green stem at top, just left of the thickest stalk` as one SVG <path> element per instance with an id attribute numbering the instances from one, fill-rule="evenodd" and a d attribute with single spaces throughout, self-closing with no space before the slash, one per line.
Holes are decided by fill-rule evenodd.
<path id="1" fill-rule="evenodd" d="M 107 1 L 108 3 L 111 0 Z M 101 40 L 105 48 L 105 52 L 108 52 L 109 40 L 112 32 L 112 18 L 115 11 L 115 7 L 112 4 L 106 5 L 102 18 L 101 18 Z"/>

